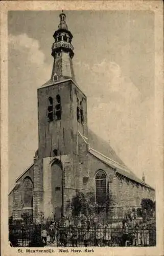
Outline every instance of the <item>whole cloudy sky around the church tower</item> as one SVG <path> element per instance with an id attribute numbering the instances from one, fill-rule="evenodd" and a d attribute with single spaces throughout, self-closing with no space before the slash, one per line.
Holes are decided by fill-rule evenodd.
<path id="1" fill-rule="evenodd" d="M 38 148 L 37 88 L 51 77 L 59 11 L 8 12 L 9 190 Z M 154 13 L 65 11 L 88 127 L 155 186 Z"/>

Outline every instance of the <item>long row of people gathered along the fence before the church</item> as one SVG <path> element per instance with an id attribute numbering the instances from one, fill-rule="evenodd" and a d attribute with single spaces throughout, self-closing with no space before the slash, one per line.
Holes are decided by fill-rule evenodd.
<path id="1" fill-rule="evenodd" d="M 125 216 L 120 223 L 102 224 L 97 221 L 90 224 L 75 224 L 65 220 L 63 223 L 51 222 L 48 228 L 41 229 L 41 243 L 56 242 L 57 246 L 112 246 L 118 239 L 121 246 L 149 246 L 149 230 L 141 228 L 134 215 Z M 48 241 L 49 238 L 49 241 Z M 117 244 L 118 246 L 118 244 Z"/>

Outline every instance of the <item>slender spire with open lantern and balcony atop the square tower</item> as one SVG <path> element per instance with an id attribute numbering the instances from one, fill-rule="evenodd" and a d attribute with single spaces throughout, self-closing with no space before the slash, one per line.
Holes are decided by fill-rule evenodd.
<path id="1" fill-rule="evenodd" d="M 74 47 L 72 46 L 72 33 L 68 30 L 65 22 L 66 15 L 61 11 L 59 14 L 60 23 L 54 33 L 55 42 L 52 46 L 52 56 L 54 65 L 51 80 L 75 79 L 72 58 L 74 56 Z"/>

